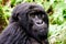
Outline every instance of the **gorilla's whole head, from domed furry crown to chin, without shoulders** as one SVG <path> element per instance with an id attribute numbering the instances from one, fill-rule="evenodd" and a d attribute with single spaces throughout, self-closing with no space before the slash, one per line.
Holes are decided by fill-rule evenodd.
<path id="1" fill-rule="evenodd" d="M 44 9 L 36 3 L 21 3 L 13 10 L 12 22 L 18 22 L 29 36 L 36 40 L 47 38 L 48 18 Z"/>

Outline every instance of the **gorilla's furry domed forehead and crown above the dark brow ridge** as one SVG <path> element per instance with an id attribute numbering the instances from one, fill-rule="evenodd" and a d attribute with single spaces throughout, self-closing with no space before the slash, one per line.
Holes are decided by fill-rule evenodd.
<path id="1" fill-rule="evenodd" d="M 16 13 L 24 13 L 24 12 L 44 12 L 44 9 L 40 4 L 33 4 L 33 3 L 21 3 L 16 7 Z"/>

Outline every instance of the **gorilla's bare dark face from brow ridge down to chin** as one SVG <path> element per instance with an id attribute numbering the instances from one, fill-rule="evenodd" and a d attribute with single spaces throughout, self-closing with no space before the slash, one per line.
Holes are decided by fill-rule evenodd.
<path id="1" fill-rule="evenodd" d="M 29 32 L 38 40 L 47 37 L 48 18 L 45 12 L 33 12 L 29 14 Z"/>

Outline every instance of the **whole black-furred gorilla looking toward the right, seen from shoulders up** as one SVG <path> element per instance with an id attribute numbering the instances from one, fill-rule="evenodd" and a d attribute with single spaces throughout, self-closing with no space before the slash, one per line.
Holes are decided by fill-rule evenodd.
<path id="1" fill-rule="evenodd" d="M 18 4 L 8 26 L 0 34 L 0 44 L 48 44 L 48 16 L 37 3 Z"/>

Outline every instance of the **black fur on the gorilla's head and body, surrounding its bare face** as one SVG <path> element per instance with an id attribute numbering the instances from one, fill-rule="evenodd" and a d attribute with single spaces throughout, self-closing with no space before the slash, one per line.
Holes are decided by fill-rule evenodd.
<path id="1" fill-rule="evenodd" d="M 32 33 L 32 25 L 30 25 L 29 13 L 43 13 L 45 15 L 44 22 L 47 29 L 40 37 L 37 34 Z M 48 18 L 44 9 L 34 3 L 21 3 L 13 9 L 12 16 L 10 18 L 9 25 L 0 34 L 0 44 L 48 44 Z"/>

